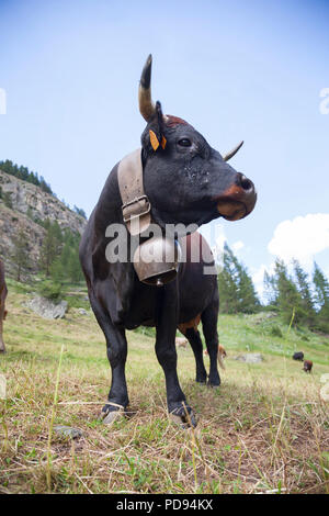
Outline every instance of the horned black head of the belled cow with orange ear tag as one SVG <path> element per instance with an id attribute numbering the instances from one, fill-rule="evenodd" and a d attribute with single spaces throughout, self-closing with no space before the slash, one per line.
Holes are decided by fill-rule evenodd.
<path id="1" fill-rule="evenodd" d="M 151 56 L 141 72 L 139 110 L 147 121 L 141 157 L 154 221 L 201 225 L 247 216 L 256 204 L 254 186 L 227 164 L 242 143 L 222 156 L 188 122 L 162 113 L 151 100 L 150 79 Z"/>

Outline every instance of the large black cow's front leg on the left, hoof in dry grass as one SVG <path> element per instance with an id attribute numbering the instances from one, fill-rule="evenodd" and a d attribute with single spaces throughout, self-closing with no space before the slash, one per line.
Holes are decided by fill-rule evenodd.
<path id="1" fill-rule="evenodd" d="M 89 296 L 92 310 L 105 335 L 107 358 L 112 370 L 112 383 L 107 397 L 109 403 L 102 408 L 104 423 L 110 424 L 129 404 L 125 377 L 127 340 L 124 329 L 116 327 L 112 323 L 110 315 L 103 310 L 95 295 L 90 292 Z"/>

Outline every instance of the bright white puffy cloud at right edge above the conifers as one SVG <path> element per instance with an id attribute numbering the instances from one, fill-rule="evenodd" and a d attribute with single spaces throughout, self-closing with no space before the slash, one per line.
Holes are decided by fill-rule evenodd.
<path id="1" fill-rule="evenodd" d="M 284 261 L 296 258 L 310 265 L 314 255 L 329 249 L 329 213 L 309 213 L 281 222 L 268 249 Z"/>

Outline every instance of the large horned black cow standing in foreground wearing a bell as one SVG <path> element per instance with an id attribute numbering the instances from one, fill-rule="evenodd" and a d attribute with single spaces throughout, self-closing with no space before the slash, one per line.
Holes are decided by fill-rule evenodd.
<path id="1" fill-rule="evenodd" d="M 147 121 L 140 153 L 144 189 L 150 202 L 152 222 L 164 231 L 166 224 L 200 226 L 219 216 L 229 221 L 247 216 L 256 204 L 253 183 L 226 162 L 240 146 L 223 157 L 185 121 L 163 115 L 160 103 L 151 101 L 150 75 L 151 56 L 141 74 L 139 110 Z M 106 260 L 106 246 L 114 238 L 105 236 L 106 227 L 123 224 L 118 165 L 105 182 L 80 244 L 80 261 L 91 306 L 105 335 L 112 369 L 109 403 L 103 407 L 103 415 L 110 423 L 117 411 L 128 405 L 125 330 L 150 325 L 156 326 L 156 355 L 166 377 L 168 411 L 182 424 L 195 425 L 193 411 L 178 380 L 175 332 L 184 324 L 186 329 L 193 329 L 202 318 L 211 358 L 208 381 L 219 385 L 216 277 L 204 276 L 202 259 L 196 263 L 188 260 L 171 282 L 152 287 L 138 280 L 132 256 L 127 262 Z M 200 237 L 191 235 L 183 243 L 200 245 Z M 190 340 L 192 335 L 196 354 L 197 379 L 205 381 L 201 343 L 188 333 Z"/>

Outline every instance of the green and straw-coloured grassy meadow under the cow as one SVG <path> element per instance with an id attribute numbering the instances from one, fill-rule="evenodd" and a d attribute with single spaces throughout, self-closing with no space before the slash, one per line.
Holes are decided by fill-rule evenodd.
<path id="1" fill-rule="evenodd" d="M 288 330 L 264 314 L 220 315 L 228 357 L 219 389 L 196 384 L 191 348 L 178 349 L 181 385 L 198 418 L 195 430 L 182 430 L 167 414 L 152 330 L 129 332 L 131 412 L 107 427 L 99 413 L 110 366 L 86 292 L 69 295 L 66 318 L 49 322 L 24 307 L 27 287 L 10 281 L 9 290 L 0 493 L 329 492 L 329 403 L 319 395 L 328 336 Z M 311 374 L 292 360 L 295 350 L 313 360 Z M 248 351 L 264 361 L 234 359 Z M 82 437 L 60 437 L 55 425 Z"/>

